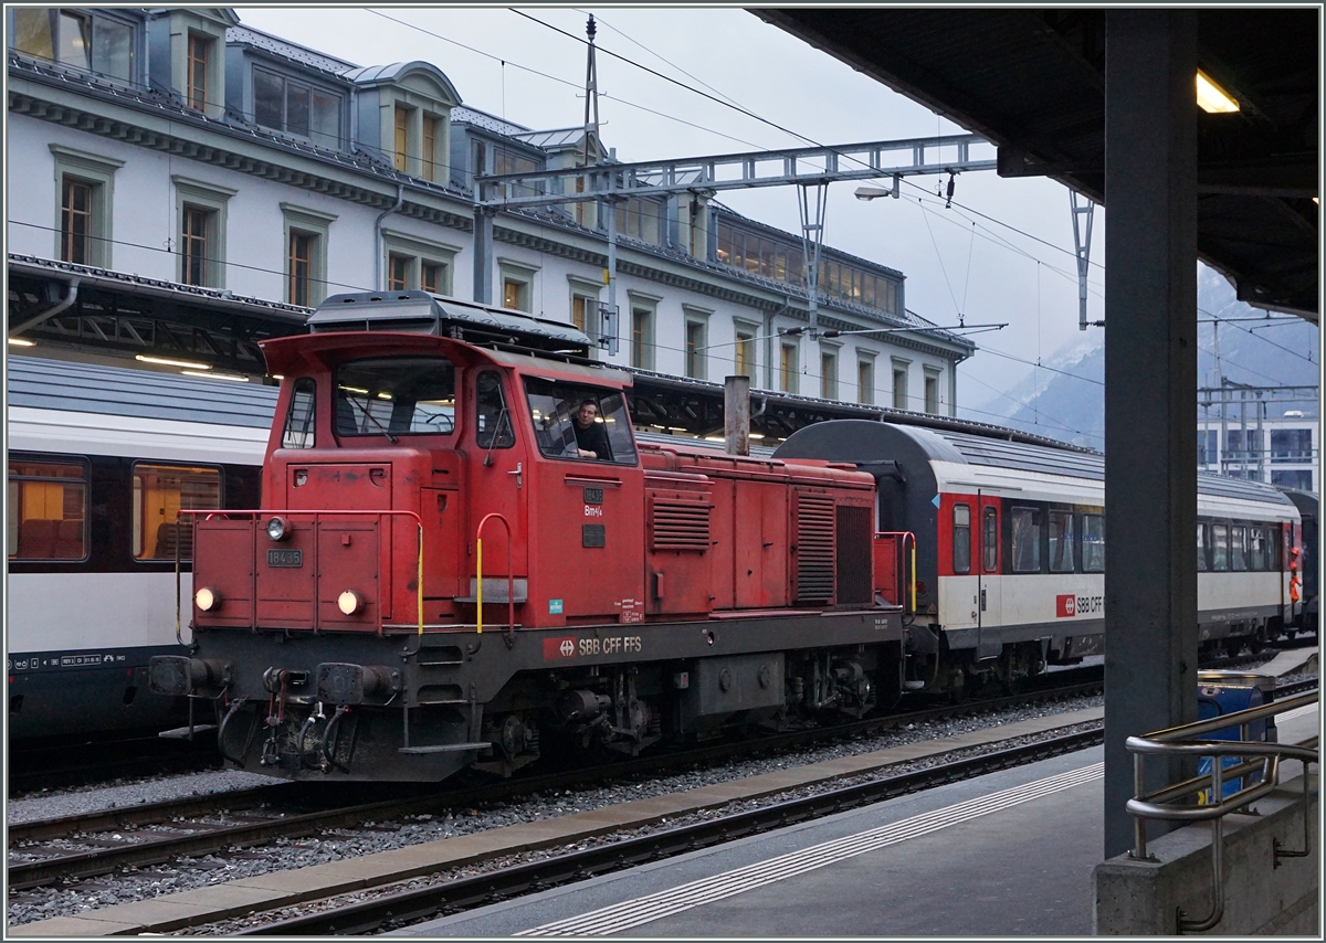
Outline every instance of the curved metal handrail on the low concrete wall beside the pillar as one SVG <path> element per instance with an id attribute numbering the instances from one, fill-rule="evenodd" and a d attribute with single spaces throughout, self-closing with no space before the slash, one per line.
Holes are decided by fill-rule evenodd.
<path id="1" fill-rule="evenodd" d="M 1213 870 L 1211 913 L 1197 920 L 1187 919 L 1179 911 L 1179 932 L 1201 932 L 1220 922 L 1225 911 L 1224 883 L 1221 882 L 1224 850 L 1224 819 L 1232 812 L 1246 808 L 1250 803 L 1266 796 L 1280 785 L 1280 762 L 1297 759 L 1303 763 L 1303 848 L 1282 849 L 1276 844 L 1274 866 L 1281 858 L 1306 857 L 1310 849 L 1309 836 L 1309 783 L 1307 764 L 1318 762 L 1318 738 L 1310 736 L 1299 743 L 1262 743 L 1249 740 L 1252 724 L 1273 718 L 1285 711 L 1318 703 L 1321 691 L 1299 694 L 1285 701 L 1276 701 L 1260 707 L 1249 707 L 1233 714 L 1215 717 L 1208 720 L 1185 723 L 1179 727 L 1155 731 L 1146 736 L 1130 736 L 1124 744 L 1134 755 L 1132 775 L 1136 795 L 1128 800 L 1127 809 L 1134 819 L 1134 846 L 1130 857 L 1139 861 L 1147 858 L 1147 820 L 1163 821 L 1209 821 L 1211 822 L 1211 862 Z M 1221 730 L 1238 727 L 1238 740 L 1201 739 Z M 1211 758 L 1211 772 L 1192 776 L 1180 783 L 1146 792 L 1146 758 Z M 1225 758 L 1235 758 L 1233 766 L 1225 766 Z M 1261 759 L 1248 759 L 1261 758 Z M 1260 776 L 1256 775 L 1260 772 Z M 1225 777 L 1237 777 L 1238 789 L 1225 795 Z M 1207 792 L 1209 789 L 1209 792 Z M 1205 801 L 1204 801 L 1205 800 Z"/>

